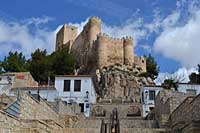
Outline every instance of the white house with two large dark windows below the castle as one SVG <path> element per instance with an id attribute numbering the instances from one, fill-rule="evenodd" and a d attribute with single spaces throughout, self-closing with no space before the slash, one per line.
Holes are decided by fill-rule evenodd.
<path id="1" fill-rule="evenodd" d="M 60 75 L 55 77 L 58 96 L 67 103 L 77 103 L 85 116 L 90 115 L 90 105 L 96 103 L 95 85 L 91 75 Z"/>

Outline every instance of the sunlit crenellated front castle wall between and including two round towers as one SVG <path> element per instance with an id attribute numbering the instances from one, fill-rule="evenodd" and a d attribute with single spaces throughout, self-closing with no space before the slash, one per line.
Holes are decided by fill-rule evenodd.
<path id="1" fill-rule="evenodd" d="M 132 66 L 134 63 L 132 38 L 118 39 L 99 34 L 95 45 L 97 66 L 100 69 L 115 64 Z"/>

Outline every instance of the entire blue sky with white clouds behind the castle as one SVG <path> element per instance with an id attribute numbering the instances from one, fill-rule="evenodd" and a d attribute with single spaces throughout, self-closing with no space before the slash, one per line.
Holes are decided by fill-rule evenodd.
<path id="1" fill-rule="evenodd" d="M 133 36 L 135 53 L 151 53 L 162 73 L 200 62 L 200 0 L 1 0 L 0 60 L 11 51 L 28 58 L 36 48 L 52 52 L 64 23 L 82 28 L 99 16 L 110 36 Z M 195 59 L 193 59 L 195 58 Z"/>

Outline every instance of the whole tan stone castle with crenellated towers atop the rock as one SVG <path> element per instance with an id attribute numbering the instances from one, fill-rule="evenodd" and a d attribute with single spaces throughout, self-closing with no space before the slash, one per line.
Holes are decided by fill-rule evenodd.
<path id="1" fill-rule="evenodd" d="M 111 38 L 101 33 L 101 20 L 91 17 L 78 35 L 77 27 L 64 24 L 56 35 L 56 51 L 67 48 L 88 73 L 112 65 L 138 65 L 146 72 L 146 60 L 134 54 L 133 38 Z M 85 72 L 86 73 L 86 72 Z"/>

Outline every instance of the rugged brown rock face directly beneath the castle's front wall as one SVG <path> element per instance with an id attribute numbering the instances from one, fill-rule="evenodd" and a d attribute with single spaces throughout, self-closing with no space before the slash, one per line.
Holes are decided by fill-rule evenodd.
<path id="1" fill-rule="evenodd" d="M 124 99 L 139 102 L 142 85 L 154 84 L 149 77 L 140 77 L 139 67 L 132 68 L 125 65 L 114 65 L 97 72 L 99 89 L 97 93 L 102 98 Z"/>

